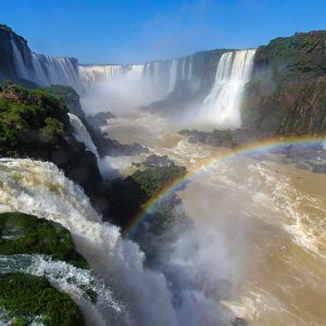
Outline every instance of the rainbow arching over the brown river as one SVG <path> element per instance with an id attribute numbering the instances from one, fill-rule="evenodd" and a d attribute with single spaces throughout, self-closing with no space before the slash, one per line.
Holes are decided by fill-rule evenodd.
<path id="1" fill-rule="evenodd" d="M 164 201 L 168 196 L 172 196 L 175 191 L 185 187 L 189 179 L 195 174 L 199 173 L 203 168 L 213 166 L 222 161 L 225 161 L 230 158 L 248 155 L 255 152 L 268 151 L 273 148 L 287 147 L 290 145 L 299 146 L 313 146 L 325 143 L 325 137 L 314 137 L 314 136 L 304 136 L 304 137 L 291 137 L 291 138 L 268 138 L 260 141 L 254 141 L 250 143 L 244 143 L 233 149 L 228 149 L 223 153 L 217 155 L 206 158 L 200 161 L 197 164 L 193 164 L 186 174 L 175 178 L 171 183 L 167 183 L 160 191 L 158 191 L 149 201 L 141 205 L 140 210 L 134 215 L 131 222 L 127 225 L 124 230 L 124 236 L 131 236 L 136 230 L 139 224 L 146 218 L 147 215 L 152 213 L 160 202 Z"/>

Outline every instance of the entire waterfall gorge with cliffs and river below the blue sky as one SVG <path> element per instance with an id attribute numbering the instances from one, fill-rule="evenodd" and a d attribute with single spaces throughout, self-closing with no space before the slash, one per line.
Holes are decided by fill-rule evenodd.
<path id="1" fill-rule="evenodd" d="M 325 78 L 324 30 L 120 65 L 0 25 L 0 323 L 323 325 Z"/>

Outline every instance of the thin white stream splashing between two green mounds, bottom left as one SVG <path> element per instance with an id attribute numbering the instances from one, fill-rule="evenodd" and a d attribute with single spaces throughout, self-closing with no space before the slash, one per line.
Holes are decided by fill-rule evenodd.
<path id="1" fill-rule="evenodd" d="M 124 306 L 114 300 L 111 290 L 91 271 L 52 261 L 51 256 L 41 254 L 0 255 L 0 273 L 15 272 L 47 277 L 55 289 L 68 294 L 78 304 L 89 325 L 106 325 L 105 315 L 109 314 L 116 323 L 121 323 L 120 315 Z M 88 297 L 89 291 L 97 294 L 97 305 Z M 0 316 L 0 324 L 4 322 L 4 316 Z M 10 318 L 7 325 L 11 325 Z"/>

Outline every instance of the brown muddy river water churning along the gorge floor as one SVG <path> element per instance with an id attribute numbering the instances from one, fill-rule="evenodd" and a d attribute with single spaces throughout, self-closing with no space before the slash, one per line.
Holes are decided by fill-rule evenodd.
<path id="1" fill-rule="evenodd" d="M 191 145 L 148 116 L 105 130 L 188 168 L 224 151 Z M 228 159 L 192 175 L 178 193 L 198 230 L 218 238 L 210 259 L 234 285 L 222 304 L 250 325 L 326 325 L 326 175 L 294 163 Z"/>

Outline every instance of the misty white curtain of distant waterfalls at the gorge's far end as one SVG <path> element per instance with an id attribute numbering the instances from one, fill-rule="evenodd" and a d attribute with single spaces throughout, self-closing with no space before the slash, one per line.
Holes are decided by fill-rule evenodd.
<path id="1" fill-rule="evenodd" d="M 83 108 L 88 114 L 109 111 L 120 117 L 153 113 L 171 127 L 238 128 L 254 52 L 218 52 L 209 78 L 198 55 L 142 65 L 82 65 Z"/>

